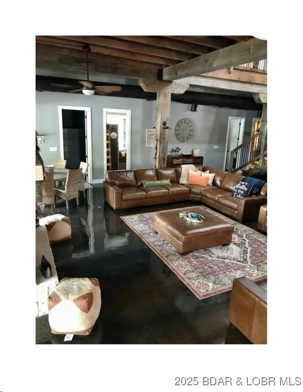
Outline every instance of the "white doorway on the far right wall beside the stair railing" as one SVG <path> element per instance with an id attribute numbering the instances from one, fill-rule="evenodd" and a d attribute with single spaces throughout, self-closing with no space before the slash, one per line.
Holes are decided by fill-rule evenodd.
<path id="1" fill-rule="evenodd" d="M 229 171 L 230 165 L 230 153 L 238 147 L 243 141 L 244 127 L 245 127 L 245 117 L 229 117 L 228 132 L 226 137 L 226 147 L 225 147 L 225 171 Z M 240 160 L 240 154 L 237 156 L 238 161 Z M 236 163 L 236 162 L 235 162 Z M 233 165 L 233 167 L 235 167 Z"/>

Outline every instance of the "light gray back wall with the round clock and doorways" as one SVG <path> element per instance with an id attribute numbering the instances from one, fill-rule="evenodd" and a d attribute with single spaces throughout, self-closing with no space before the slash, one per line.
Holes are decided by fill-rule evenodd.
<path id="1" fill-rule="evenodd" d="M 155 149 L 146 147 L 146 129 L 155 126 L 156 101 L 36 91 L 36 132 L 45 136 L 45 142 L 40 144 L 45 164 L 49 164 L 50 159 L 60 159 L 58 106 L 91 107 L 93 182 L 104 179 L 103 108 L 132 111 L 131 168 L 153 167 Z M 246 117 L 244 132 L 250 133 L 257 111 L 198 105 L 197 111 L 191 112 L 189 108 L 187 104 L 171 102 L 169 126 L 172 129 L 168 137 L 168 154 L 176 146 L 182 149 L 181 153 L 191 153 L 192 149 L 198 148 L 206 165 L 223 169 L 229 116 Z M 195 126 L 194 136 L 187 143 L 179 142 L 174 135 L 174 126 L 183 117 L 189 117 Z M 214 149 L 214 145 L 218 149 Z M 57 147 L 57 152 L 50 152 L 50 147 Z"/>

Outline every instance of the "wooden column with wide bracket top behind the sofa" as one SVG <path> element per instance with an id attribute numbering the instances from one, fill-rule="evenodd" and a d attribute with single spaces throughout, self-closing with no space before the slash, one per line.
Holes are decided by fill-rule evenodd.
<path id="1" fill-rule="evenodd" d="M 183 94 L 188 89 L 189 84 L 150 79 L 139 79 L 138 82 L 144 91 L 157 92 L 154 166 L 166 167 L 169 130 L 164 129 L 163 122 L 165 121 L 169 125 L 171 93 Z"/>

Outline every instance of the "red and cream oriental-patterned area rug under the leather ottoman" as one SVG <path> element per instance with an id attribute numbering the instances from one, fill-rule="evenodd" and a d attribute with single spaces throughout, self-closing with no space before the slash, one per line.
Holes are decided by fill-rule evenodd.
<path id="1" fill-rule="evenodd" d="M 180 255 L 155 232 L 153 212 L 124 215 L 121 219 L 200 300 L 231 290 L 233 280 L 242 276 L 255 282 L 266 279 L 267 236 L 208 207 L 200 207 L 235 227 L 229 246 Z M 175 210 L 185 211 L 186 208 Z"/>

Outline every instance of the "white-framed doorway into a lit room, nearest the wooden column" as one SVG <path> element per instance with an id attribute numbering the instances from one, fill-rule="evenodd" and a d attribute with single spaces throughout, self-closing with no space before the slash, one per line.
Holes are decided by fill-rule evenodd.
<path id="1" fill-rule="evenodd" d="M 131 112 L 103 109 L 104 171 L 131 168 Z"/>

